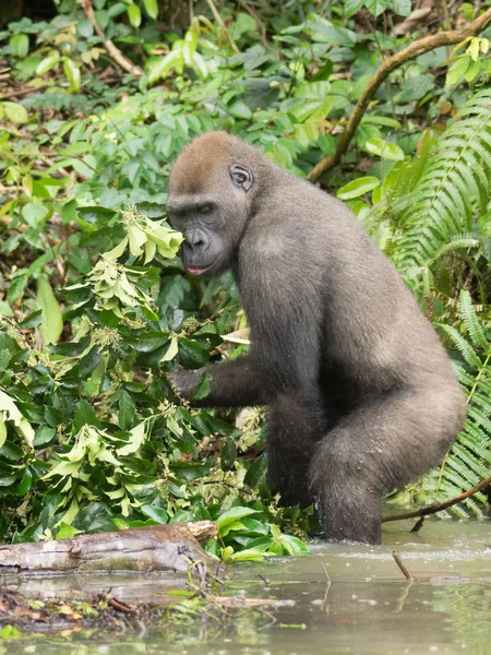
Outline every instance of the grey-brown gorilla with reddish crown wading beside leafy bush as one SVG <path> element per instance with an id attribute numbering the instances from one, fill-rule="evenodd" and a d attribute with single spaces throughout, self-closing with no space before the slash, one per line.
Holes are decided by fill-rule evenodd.
<path id="1" fill-rule="evenodd" d="M 346 205 L 227 132 L 182 151 L 167 210 L 189 275 L 231 270 L 251 329 L 193 405 L 267 405 L 283 504 L 315 503 L 327 539 L 379 544 L 383 495 L 438 464 L 466 412 L 409 289 Z M 176 371 L 176 391 L 202 373 Z"/>

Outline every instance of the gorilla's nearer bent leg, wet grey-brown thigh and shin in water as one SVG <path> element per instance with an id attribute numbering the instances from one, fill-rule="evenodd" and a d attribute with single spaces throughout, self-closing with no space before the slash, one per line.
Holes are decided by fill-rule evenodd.
<path id="1" fill-rule="evenodd" d="M 455 390 L 400 392 L 346 415 L 312 458 L 310 485 L 327 539 L 380 544 L 384 491 L 435 465 L 457 433 Z"/>

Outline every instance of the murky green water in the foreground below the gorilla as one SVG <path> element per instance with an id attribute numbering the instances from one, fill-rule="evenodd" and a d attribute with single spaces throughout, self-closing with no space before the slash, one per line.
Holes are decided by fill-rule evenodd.
<path id="1" fill-rule="evenodd" d="M 203 616 L 179 629 L 111 640 L 21 640 L 0 653 L 491 654 L 491 522 L 428 521 L 419 535 L 408 533 L 411 525 L 385 527 L 379 547 L 319 543 L 304 558 L 230 571 L 228 594 L 287 602 L 267 614 L 244 609 L 233 620 Z M 406 582 L 393 549 L 418 582 Z M 152 576 L 133 579 L 130 586 L 128 579 L 111 577 L 107 586 L 117 597 L 161 597 Z"/>

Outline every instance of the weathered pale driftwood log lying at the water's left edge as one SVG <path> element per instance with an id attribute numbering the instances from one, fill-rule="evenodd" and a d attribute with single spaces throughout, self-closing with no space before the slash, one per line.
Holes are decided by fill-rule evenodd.
<path id="1" fill-rule="evenodd" d="M 212 521 L 169 523 L 81 535 L 59 541 L 0 546 L 0 571 L 185 572 L 190 564 L 209 564 L 200 546 L 217 535 Z"/>

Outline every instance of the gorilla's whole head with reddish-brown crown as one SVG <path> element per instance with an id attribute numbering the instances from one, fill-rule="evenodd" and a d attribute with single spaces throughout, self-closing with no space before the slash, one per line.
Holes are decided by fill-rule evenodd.
<path id="1" fill-rule="evenodd" d="M 179 155 L 167 211 L 182 231 L 182 262 L 190 275 L 217 275 L 237 260 L 259 184 L 259 153 L 226 132 L 208 132 Z"/>

